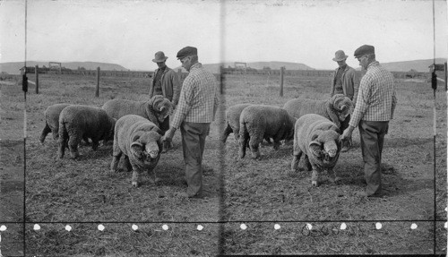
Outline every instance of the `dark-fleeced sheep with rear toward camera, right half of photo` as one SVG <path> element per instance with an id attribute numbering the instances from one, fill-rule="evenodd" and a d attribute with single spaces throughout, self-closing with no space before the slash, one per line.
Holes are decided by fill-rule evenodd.
<path id="1" fill-rule="evenodd" d="M 244 108 L 239 117 L 239 158 L 245 158 L 247 142 L 252 157 L 259 158 L 263 138 L 272 138 L 273 148 L 278 150 L 281 140 L 293 139 L 295 123 L 296 118 L 280 107 L 254 105 Z"/>

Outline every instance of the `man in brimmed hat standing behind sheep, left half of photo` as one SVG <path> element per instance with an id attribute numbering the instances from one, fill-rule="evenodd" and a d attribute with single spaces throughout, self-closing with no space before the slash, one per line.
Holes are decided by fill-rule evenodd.
<path id="1" fill-rule="evenodd" d="M 150 98 L 156 95 L 162 95 L 164 98 L 168 99 L 173 107 L 177 106 L 180 95 L 180 81 L 177 73 L 172 69 L 168 68 L 166 61 L 168 56 L 161 51 L 154 55 L 152 62 L 156 63 L 159 68 L 155 70 L 152 83 L 150 85 Z M 167 131 L 169 128 L 169 116 L 165 121 L 160 124 L 160 130 Z M 164 149 L 165 151 L 166 149 Z"/>

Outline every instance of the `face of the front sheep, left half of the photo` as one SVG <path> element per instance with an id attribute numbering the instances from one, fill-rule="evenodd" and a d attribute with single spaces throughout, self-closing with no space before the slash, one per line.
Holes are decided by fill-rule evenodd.
<path id="1" fill-rule="evenodd" d="M 135 136 L 131 144 L 134 156 L 143 162 L 151 163 L 154 158 L 159 156 L 160 138 L 159 133 L 152 131 Z"/>

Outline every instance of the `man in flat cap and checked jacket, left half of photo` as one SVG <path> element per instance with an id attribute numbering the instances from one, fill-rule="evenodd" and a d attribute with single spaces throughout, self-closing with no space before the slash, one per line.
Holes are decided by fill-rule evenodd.
<path id="1" fill-rule="evenodd" d="M 184 47 L 177 53 L 182 67 L 189 72 L 182 84 L 177 112 L 162 140 L 171 141 L 180 128 L 188 188 L 182 197 L 202 198 L 202 154 L 219 106 L 215 76 L 198 62 L 197 48 Z"/>

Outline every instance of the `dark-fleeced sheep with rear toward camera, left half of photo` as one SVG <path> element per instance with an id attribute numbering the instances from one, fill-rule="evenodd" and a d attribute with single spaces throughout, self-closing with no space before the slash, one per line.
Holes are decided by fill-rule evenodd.
<path id="1" fill-rule="evenodd" d="M 78 144 L 91 139 L 91 148 L 97 150 L 99 141 L 111 140 L 116 119 L 99 107 L 71 105 L 59 115 L 59 158 L 64 158 L 68 143 L 72 158 L 78 158 Z"/>

